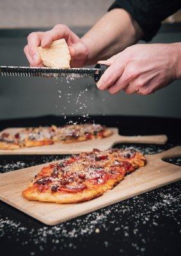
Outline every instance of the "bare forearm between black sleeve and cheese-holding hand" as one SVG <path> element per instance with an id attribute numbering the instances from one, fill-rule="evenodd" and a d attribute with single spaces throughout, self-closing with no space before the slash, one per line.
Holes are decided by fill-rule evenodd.
<path id="1" fill-rule="evenodd" d="M 123 9 L 111 10 L 82 38 L 89 52 L 85 65 L 110 58 L 138 42 L 141 36 L 141 28 L 128 12 Z"/>

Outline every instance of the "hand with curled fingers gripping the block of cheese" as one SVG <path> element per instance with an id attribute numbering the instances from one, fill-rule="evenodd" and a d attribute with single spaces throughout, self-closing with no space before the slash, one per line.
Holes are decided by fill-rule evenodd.
<path id="1" fill-rule="evenodd" d="M 71 67 L 82 67 L 88 58 L 88 49 L 81 39 L 67 26 L 58 24 L 46 32 L 33 32 L 28 36 L 28 45 L 24 47 L 24 53 L 32 67 L 43 67 L 38 53 L 38 46 L 47 48 L 52 41 L 65 38 L 71 55 Z"/>

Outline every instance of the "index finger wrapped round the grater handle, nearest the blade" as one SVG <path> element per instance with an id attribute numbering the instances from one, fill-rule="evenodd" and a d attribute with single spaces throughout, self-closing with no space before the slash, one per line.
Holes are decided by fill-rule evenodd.
<path id="1" fill-rule="evenodd" d="M 124 65 L 120 65 L 120 61 L 115 61 L 100 77 L 97 83 L 98 89 L 106 90 L 109 86 L 113 85 L 122 76 L 123 70 Z"/>

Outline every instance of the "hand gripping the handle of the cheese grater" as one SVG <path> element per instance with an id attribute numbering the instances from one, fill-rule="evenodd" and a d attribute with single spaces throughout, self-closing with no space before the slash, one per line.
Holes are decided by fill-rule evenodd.
<path id="1" fill-rule="evenodd" d="M 97 87 L 111 94 L 124 90 L 128 94 L 148 95 L 167 86 L 178 79 L 178 44 L 133 45 L 109 60 L 98 61 L 109 68 Z"/>

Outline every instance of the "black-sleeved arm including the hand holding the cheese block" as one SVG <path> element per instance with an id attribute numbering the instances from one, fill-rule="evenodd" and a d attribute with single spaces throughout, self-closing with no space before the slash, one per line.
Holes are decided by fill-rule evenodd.
<path id="1" fill-rule="evenodd" d="M 67 26 L 58 24 L 50 31 L 31 33 L 24 52 L 30 65 L 40 66 L 37 47 L 49 47 L 53 40 L 65 38 L 72 57 L 71 67 L 90 65 L 123 51 L 140 38 L 150 40 L 161 26 L 161 20 L 180 6 L 180 0 L 116 0 L 110 12 L 82 40 Z"/>

